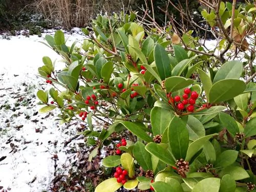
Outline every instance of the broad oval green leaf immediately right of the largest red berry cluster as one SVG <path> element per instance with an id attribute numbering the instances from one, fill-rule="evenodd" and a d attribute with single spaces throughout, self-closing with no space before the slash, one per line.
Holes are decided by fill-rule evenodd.
<path id="1" fill-rule="evenodd" d="M 246 88 L 244 81 L 239 79 L 223 79 L 211 87 L 209 94 L 209 102 L 216 103 L 227 101 L 243 93 Z"/>

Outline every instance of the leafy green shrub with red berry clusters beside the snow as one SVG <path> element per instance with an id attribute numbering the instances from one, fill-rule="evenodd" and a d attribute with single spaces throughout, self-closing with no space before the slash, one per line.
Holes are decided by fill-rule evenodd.
<path id="1" fill-rule="evenodd" d="M 231 14 L 229 9 L 222 2 L 222 14 L 213 9 L 202 15 L 216 27 L 215 18 L 226 14 L 226 29 L 230 20 L 231 31 L 249 35 L 253 5 L 231 8 Z M 38 72 L 54 88 L 37 92 L 44 105 L 39 111 L 59 108 L 60 123 L 86 121 L 89 129 L 81 134 L 95 146 L 89 161 L 102 145 L 118 141 L 116 154 L 102 161 L 116 167 L 113 178 L 101 182 L 96 192 L 120 187 L 157 192 L 253 190 L 255 42 L 243 50 L 243 44 L 223 36 L 215 48 L 221 50 L 218 55 L 191 31 L 183 36 L 175 29 L 146 31 L 135 18 L 133 12 L 98 15 L 92 29 L 83 29 L 87 39 L 81 50 L 76 42 L 66 46 L 61 31 L 46 35 L 66 68 L 56 73 L 51 59 L 43 58 Z M 240 18 L 247 21 L 241 28 L 234 24 Z M 230 44 L 240 50 L 243 62 Z M 102 127 L 96 128 L 93 120 Z"/>

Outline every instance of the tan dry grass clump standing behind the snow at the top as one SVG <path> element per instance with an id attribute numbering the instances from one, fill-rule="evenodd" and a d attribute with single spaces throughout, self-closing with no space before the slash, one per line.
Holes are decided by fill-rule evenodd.
<path id="1" fill-rule="evenodd" d="M 97 14 L 121 11 L 129 0 L 34 0 L 36 11 L 49 20 L 52 25 L 63 27 L 84 27 Z M 124 3 L 123 3 L 124 2 Z M 50 24 L 50 23 L 49 23 Z"/>

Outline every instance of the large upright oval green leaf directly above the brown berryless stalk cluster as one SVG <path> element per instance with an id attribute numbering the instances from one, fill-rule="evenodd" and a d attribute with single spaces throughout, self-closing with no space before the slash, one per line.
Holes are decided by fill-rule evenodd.
<path id="1" fill-rule="evenodd" d="M 186 124 L 178 117 L 174 117 L 168 127 L 168 141 L 176 159 L 185 159 L 189 141 L 188 137 Z"/>

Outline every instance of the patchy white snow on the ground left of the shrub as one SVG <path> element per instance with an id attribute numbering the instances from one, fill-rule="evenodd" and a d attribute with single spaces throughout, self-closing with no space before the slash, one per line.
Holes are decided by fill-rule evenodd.
<path id="1" fill-rule="evenodd" d="M 54 173 L 69 166 L 69 147 L 63 143 L 77 134 L 79 124 L 59 125 L 53 113 L 37 112 L 37 90 L 49 89 L 45 80 L 36 76 L 43 65 L 41 58 L 61 59 L 39 42 L 45 35 L 20 35 L 11 40 L 0 36 L 0 191 L 49 191 Z M 81 33 L 66 36 L 68 45 L 84 39 Z M 56 67 L 64 65 L 58 62 Z M 82 137 L 75 142 L 78 140 L 83 142 Z"/>

